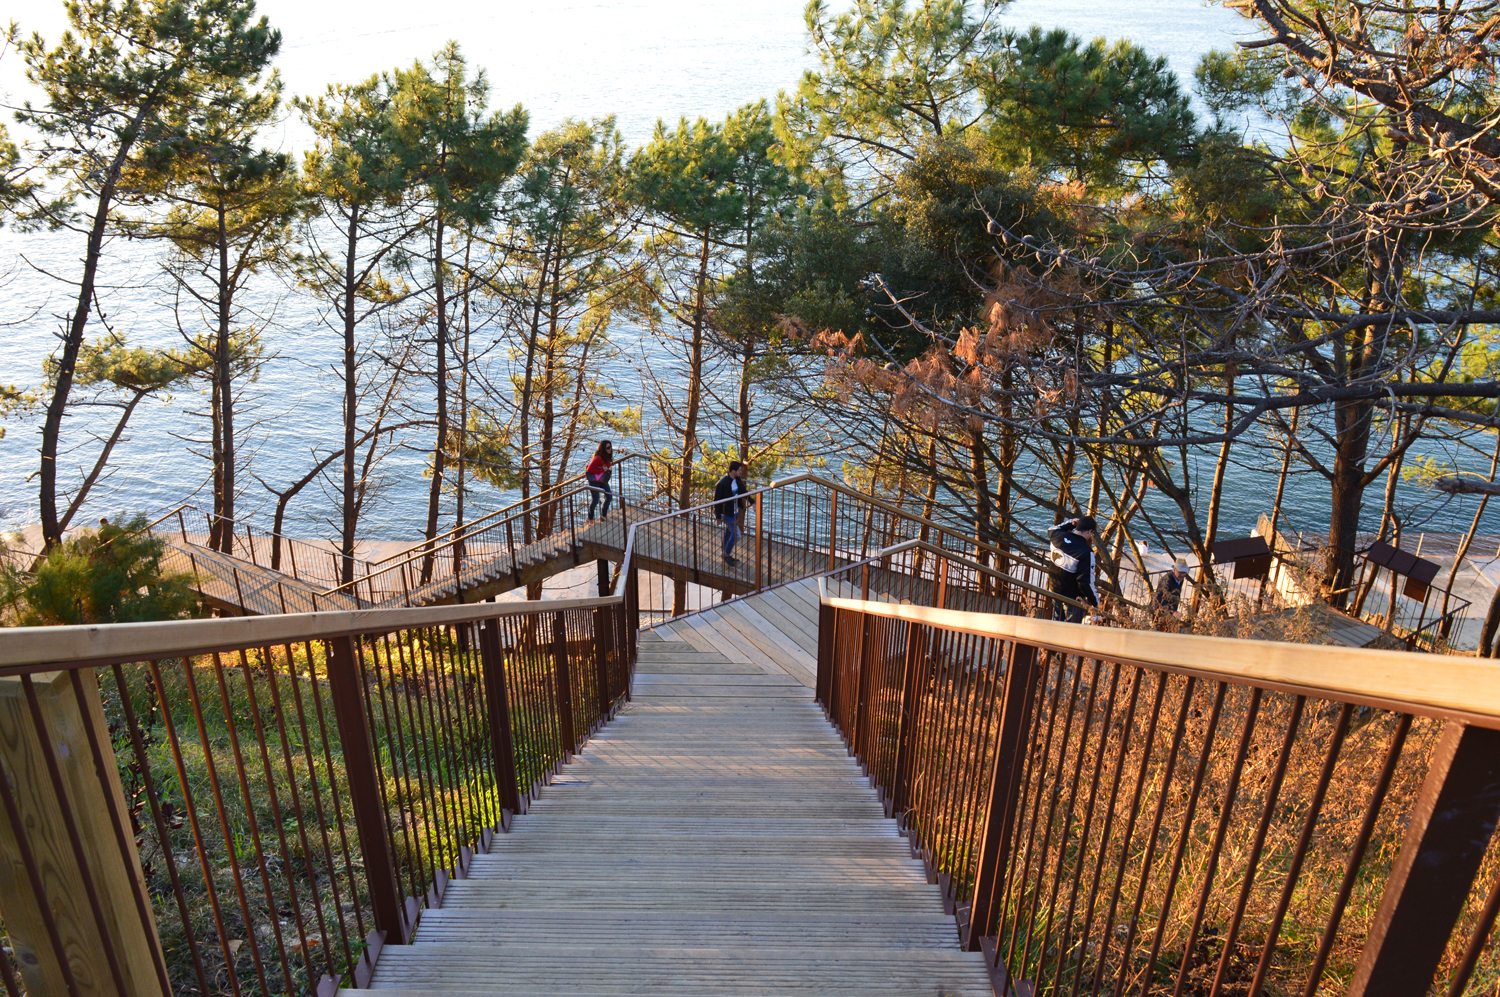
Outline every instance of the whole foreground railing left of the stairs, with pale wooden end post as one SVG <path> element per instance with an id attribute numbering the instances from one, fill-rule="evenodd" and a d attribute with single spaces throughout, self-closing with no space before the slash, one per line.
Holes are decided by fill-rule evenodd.
<path id="1" fill-rule="evenodd" d="M 628 694 L 620 610 L 0 631 L 0 990 L 366 985 Z"/>

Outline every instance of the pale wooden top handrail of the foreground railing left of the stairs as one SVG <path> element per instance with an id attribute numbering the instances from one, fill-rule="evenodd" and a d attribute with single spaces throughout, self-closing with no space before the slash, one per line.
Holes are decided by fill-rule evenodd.
<path id="1" fill-rule="evenodd" d="M 608 595 L 530 603 L 174 619 L 153 624 L 8 627 L 0 630 L 0 675 L 38 672 L 60 663 L 75 666 L 182 658 L 225 648 L 278 646 L 351 634 L 468 624 L 501 616 L 534 616 L 567 609 L 591 610 L 620 603 L 620 597 Z"/>

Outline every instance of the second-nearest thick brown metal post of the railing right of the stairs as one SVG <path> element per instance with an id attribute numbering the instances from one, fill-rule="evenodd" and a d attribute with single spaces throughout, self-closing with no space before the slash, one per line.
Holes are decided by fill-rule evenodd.
<path id="1" fill-rule="evenodd" d="M 1005 693 L 994 745 L 994 771 L 980 837 L 980 864 L 975 871 L 974 904 L 962 925 L 963 948 L 980 949 L 980 940 L 994 931 L 994 894 L 1011 853 L 1011 814 L 1022 792 L 1022 766 L 1026 759 L 1026 729 L 1030 726 L 1032 688 L 1036 681 L 1036 648 L 1011 645 L 1005 669 Z"/>

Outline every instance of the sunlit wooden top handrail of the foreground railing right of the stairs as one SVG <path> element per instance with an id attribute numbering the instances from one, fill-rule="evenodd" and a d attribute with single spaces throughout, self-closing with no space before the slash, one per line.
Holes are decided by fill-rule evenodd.
<path id="1" fill-rule="evenodd" d="M 1486 727 L 1500 727 L 1500 667 L 1473 658 L 1084 627 L 1029 616 L 964 613 L 850 598 L 824 598 L 824 604 L 1016 640 L 1086 658 L 1288 688 L 1306 696 L 1382 705 L 1404 712 L 1460 715 Z"/>

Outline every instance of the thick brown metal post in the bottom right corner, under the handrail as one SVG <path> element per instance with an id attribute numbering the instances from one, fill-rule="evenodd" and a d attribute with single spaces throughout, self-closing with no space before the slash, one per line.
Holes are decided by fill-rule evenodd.
<path id="1" fill-rule="evenodd" d="M 1500 820 L 1500 730 L 1449 721 L 1354 966 L 1348 997 L 1425 994 Z"/>

